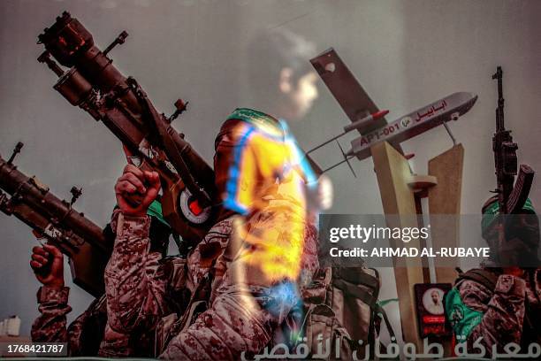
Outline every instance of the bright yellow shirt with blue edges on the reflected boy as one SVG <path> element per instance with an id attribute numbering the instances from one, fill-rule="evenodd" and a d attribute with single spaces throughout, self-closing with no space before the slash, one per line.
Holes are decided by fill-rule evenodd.
<path id="1" fill-rule="evenodd" d="M 285 122 L 256 111 L 238 111 L 246 111 L 249 118 L 231 132 L 233 157 L 224 195 L 226 208 L 246 216 L 238 230 L 243 241 L 238 259 L 255 283 L 296 280 L 307 217 L 306 187 L 315 184 L 315 176 L 302 163 Z M 246 113 L 236 111 L 230 119 L 243 119 Z"/>

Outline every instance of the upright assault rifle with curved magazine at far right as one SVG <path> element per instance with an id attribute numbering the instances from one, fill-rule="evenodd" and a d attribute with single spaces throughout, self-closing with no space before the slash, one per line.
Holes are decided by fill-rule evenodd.
<path id="1" fill-rule="evenodd" d="M 492 150 L 494 151 L 494 164 L 496 166 L 499 213 L 515 214 L 522 210 L 522 206 L 530 194 L 534 171 L 529 165 L 521 165 L 517 174 L 516 150 L 518 145 L 513 142 L 511 131 L 504 126 L 504 97 L 502 85 L 503 72 L 498 66 L 492 79 L 498 81 L 498 107 L 496 108 L 496 133 L 492 137 Z"/>

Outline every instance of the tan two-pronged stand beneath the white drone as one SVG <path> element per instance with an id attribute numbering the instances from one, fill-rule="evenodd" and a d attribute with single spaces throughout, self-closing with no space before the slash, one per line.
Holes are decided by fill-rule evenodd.
<path id="1" fill-rule="evenodd" d="M 431 214 L 460 214 L 464 157 L 460 144 L 431 159 L 428 176 L 413 174 L 408 159 L 387 142 L 375 144 L 370 152 L 385 215 L 399 216 L 388 217 L 388 227 L 420 227 L 419 222 L 415 221 L 415 215 L 422 211 L 420 198 L 423 196 L 429 197 Z M 438 248 L 439 244 L 446 244 L 447 247 L 458 244 L 458 226 L 458 222 L 454 227 L 431 224 L 432 247 Z M 454 232 L 449 233 L 451 228 Z M 409 242 L 409 246 L 421 248 L 424 245 L 419 240 L 413 240 Z M 414 285 L 431 281 L 428 268 L 425 267 L 424 271 L 420 257 L 408 258 L 407 266 L 394 267 L 403 339 L 404 342 L 415 343 L 417 350 L 423 349 L 423 342 L 418 331 Z M 436 267 L 436 274 L 438 282 L 453 282 L 456 276 L 453 269 L 448 267 Z"/>

